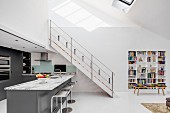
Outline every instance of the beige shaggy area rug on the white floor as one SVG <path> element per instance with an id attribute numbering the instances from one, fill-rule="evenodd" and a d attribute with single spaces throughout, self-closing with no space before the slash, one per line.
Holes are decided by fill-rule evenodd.
<path id="1" fill-rule="evenodd" d="M 152 113 L 170 113 L 165 103 L 141 103 L 144 107 Z"/>

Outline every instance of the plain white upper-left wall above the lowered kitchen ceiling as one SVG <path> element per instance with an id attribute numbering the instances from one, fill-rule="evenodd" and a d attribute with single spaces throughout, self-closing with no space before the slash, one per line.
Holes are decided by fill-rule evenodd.
<path id="1" fill-rule="evenodd" d="M 0 25 L 46 46 L 49 36 L 47 3 L 47 0 L 0 0 Z"/>

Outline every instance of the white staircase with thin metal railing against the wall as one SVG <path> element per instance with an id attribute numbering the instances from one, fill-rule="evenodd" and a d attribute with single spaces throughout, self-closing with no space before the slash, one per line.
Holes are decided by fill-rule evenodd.
<path id="1" fill-rule="evenodd" d="M 114 73 L 50 20 L 50 46 L 113 97 Z"/>

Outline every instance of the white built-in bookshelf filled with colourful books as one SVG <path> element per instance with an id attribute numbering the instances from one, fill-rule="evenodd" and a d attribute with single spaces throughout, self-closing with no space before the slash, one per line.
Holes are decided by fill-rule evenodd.
<path id="1" fill-rule="evenodd" d="M 166 51 L 128 51 L 128 88 L 133 84 L 166 84 Z"/>

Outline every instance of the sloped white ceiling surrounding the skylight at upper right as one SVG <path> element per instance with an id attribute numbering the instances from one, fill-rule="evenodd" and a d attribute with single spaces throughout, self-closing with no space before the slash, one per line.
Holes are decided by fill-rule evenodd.
<path id="1" fill-rule="evenodd" d="M 73 0 L 75 1 L 75 0 Z M 170 0 L 136 0 L 128 13 L 112 6 L 114 0 L 80 0 L 122 22 L 136 24 L 170 40 Z"/>

